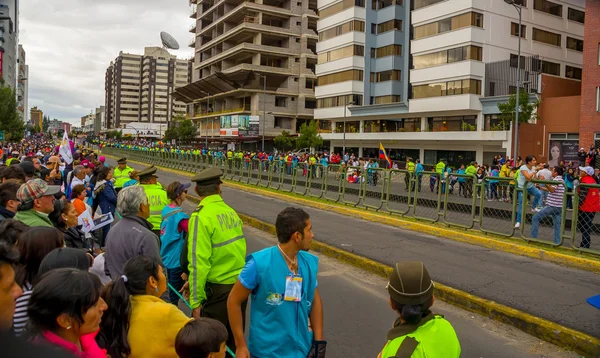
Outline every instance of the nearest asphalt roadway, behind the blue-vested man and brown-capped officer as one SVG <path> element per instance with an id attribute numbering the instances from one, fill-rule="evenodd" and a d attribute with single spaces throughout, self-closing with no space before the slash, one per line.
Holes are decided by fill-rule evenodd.
<path id="1" fill-rule="evenodd" d="M 184 204 L 191 213 L 195 205 Z M 276 243 L 275 237 L 245 227 L 248 253 Z M 377 357 L 395 319 L 388 304 L 386 281 L 326 256 L 319 256 L 319 290 L 323 298 L 327 357 Z M 462 357 L 578 357 L 513 327 L 437 301 L 433 311 L 457 331 Z"/>

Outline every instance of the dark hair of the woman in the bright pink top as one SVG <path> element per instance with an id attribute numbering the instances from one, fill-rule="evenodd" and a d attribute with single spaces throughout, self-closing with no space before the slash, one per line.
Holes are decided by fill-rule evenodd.
<path id="1" fill-rule="evenodd" d="M 48 272 L 29 300 L 27 314 L 34 332 L 54 332 L 61 314 L 83 324 L 85 313 L 100 299 L 101 288 L 100 279 L 87 271 L 60 268 Z"/>

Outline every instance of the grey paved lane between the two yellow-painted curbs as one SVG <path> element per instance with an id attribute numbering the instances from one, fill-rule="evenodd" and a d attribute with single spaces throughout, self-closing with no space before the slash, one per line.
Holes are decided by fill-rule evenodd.
<path id="1" fill-rule="evenodd" d="M 162 170 L 158 175 L 165 185 L 189 180 Z M 223 188 L 223 198 L 235 210 L 273 224 L 277 214 L 290 206 L 228 187 Z M 304 209 L 311 216 L 317 240 L 388 265 L 403 259 L 423 261 L 440 283 L 600 337 L 600 311 L 585 303 L 600 290 L 597 274 L 310 207 Z"/>

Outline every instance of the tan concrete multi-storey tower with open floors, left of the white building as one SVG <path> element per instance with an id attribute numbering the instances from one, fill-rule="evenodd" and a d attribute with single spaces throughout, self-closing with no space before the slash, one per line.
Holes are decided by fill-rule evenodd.
<path id="1" fill-rule="evenodd" d="M 282 130 L 296 133 L 313 118 L 316 0 L 191 3 L 193 81 L 176 96 L 190 104 L 202 137 L 254 148 L 264 124 L 270 148 Z M 241 130 L 251 116 L 261 121 L 258 133 Z"/>

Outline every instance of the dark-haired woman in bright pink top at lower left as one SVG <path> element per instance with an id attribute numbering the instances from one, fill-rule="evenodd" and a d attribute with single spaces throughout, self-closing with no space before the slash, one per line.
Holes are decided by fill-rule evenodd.
<path id="1" fill-rule="evenodd" d="M 63 268 L 48 272 L 29 303 L 34 342 L 55 346 L 79 358 L 106 358 L 96 344 L 106 303 L 102 284 L 87 271 Z"/>

